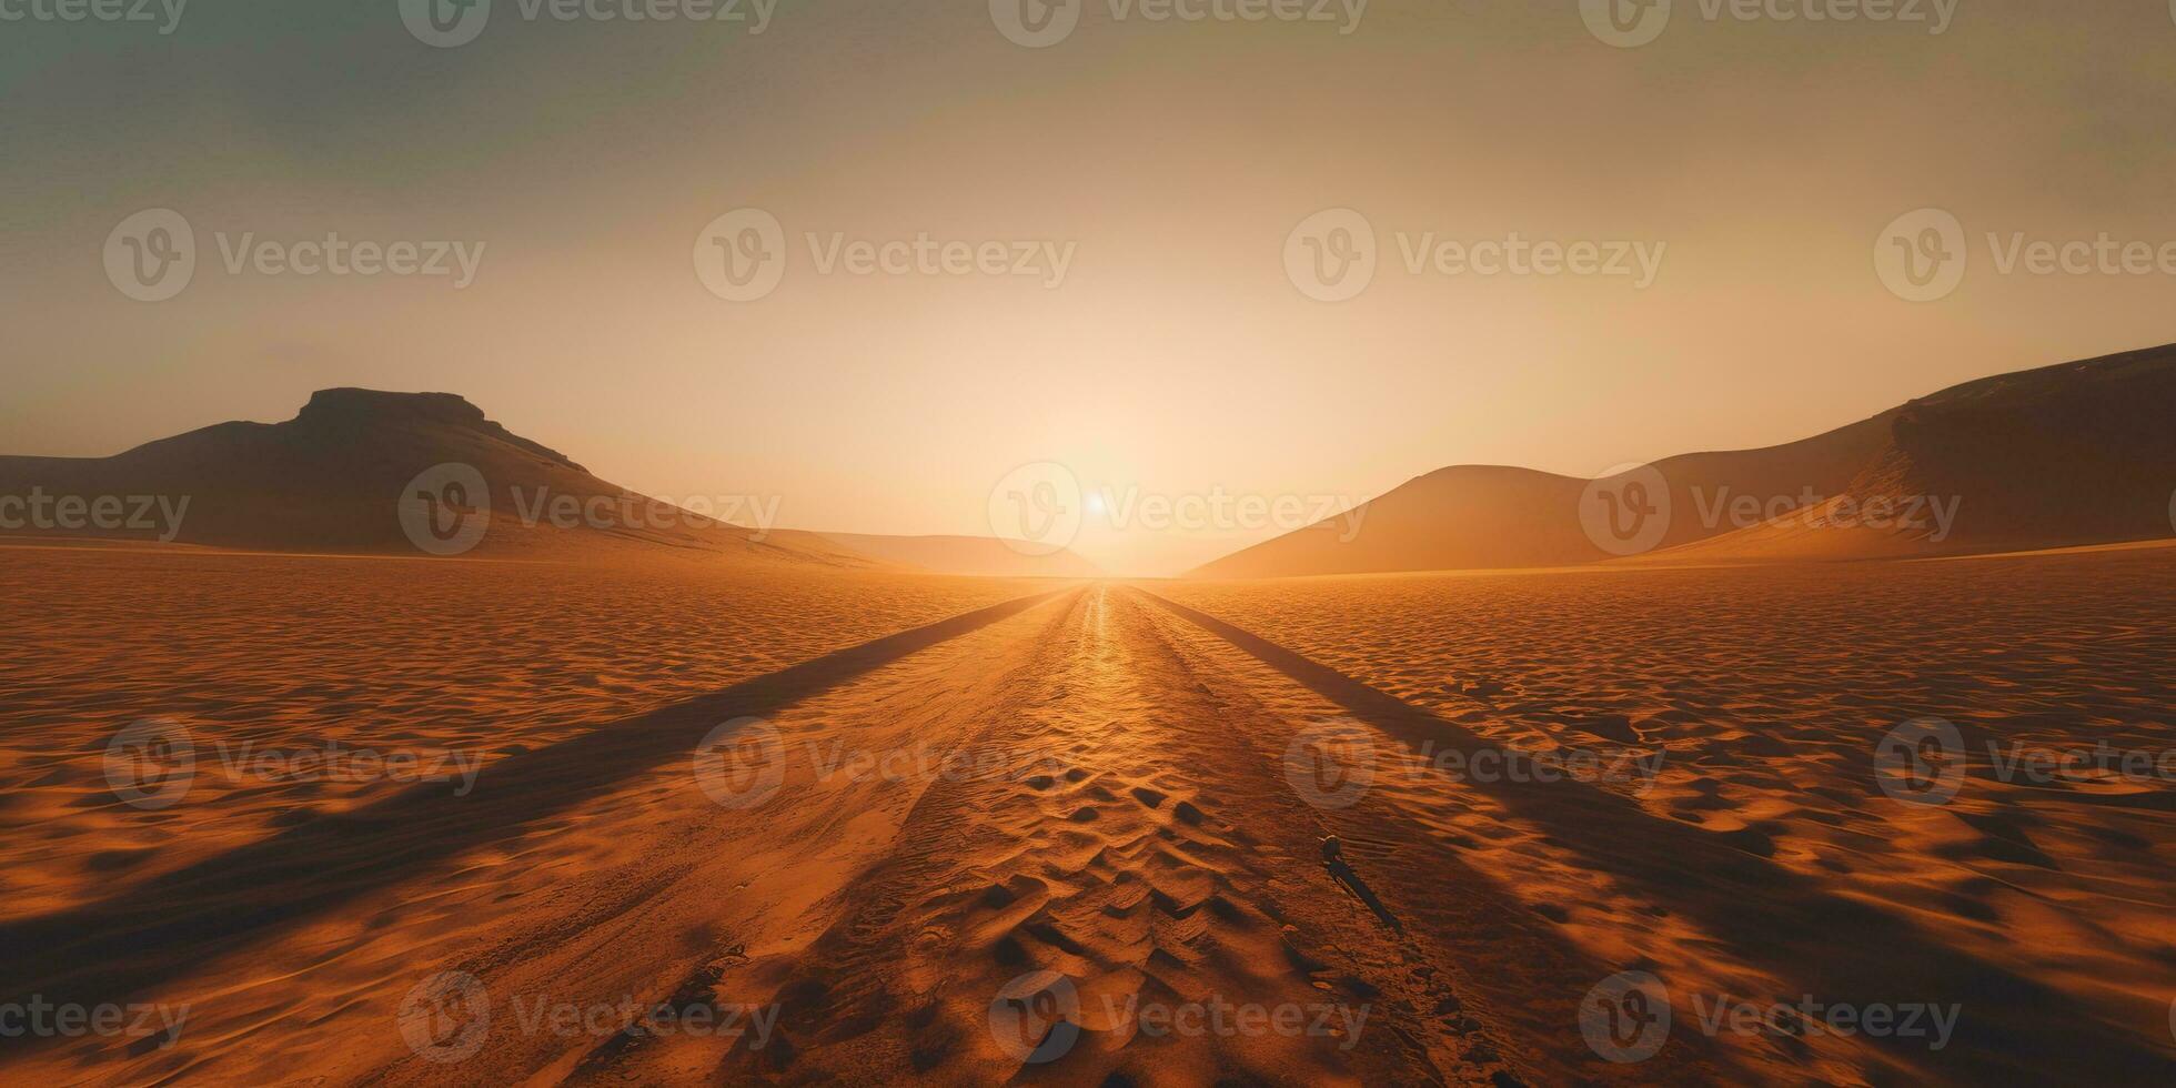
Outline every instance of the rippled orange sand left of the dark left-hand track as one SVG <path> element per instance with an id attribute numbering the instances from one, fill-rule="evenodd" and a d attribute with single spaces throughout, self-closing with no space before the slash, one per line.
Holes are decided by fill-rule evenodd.
<path id="1" fill-rule="evenodd" d="M 400 786 L 268 781 L 250 770 L 265 753 L 344 742 L 444 755 L 457 775 L 1023 592 L 705 559 L 7 546 L 0 912 L 65 910 Z M 200 749 L 187 803 L 159 814 L 120 803 L 102 775 L 109 738 L 144 718 Z"/>

